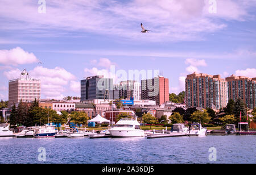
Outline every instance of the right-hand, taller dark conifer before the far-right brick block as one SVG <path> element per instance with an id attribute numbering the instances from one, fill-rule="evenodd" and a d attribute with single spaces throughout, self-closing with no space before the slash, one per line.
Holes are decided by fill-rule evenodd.
<path id="1" fill-rule="evenodd" d="M 240 122 L 240 114 L 241 122 L 245 122 L 244 119 L 247 118 L 245 103 L 243 103 L 241 98 L 238 98 L 234 106 L 234 117 L 236 118 L 237 123 Z"/>

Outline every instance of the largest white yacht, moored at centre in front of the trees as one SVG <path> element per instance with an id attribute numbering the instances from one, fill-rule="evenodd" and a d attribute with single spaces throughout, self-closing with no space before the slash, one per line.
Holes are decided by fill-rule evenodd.
<path id="1" fill-rule="evenodd" d="M 141 126 L 137 121 L 137 118 L 123 118 L 115 124 L 113 128 L 109 130 L 113 137 L 119 138 L 131 138 L 131 137 L 142 137 L 145 132 L 139 128 Z"/>

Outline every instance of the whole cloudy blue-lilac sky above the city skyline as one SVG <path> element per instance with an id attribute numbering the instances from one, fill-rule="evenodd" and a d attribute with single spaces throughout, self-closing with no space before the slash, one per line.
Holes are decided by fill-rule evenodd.
<path id="1" fill-rule="evenodd" d="M 25 68 L 42 98 L 59 99 L 80 96 L 80 80 L 111 65 L 158 69 L 174 93 L 193 72 L 256 77 L 255 0 L 45 2 L 46 13 L 38 1 L 0 2 L 0 99 Z"/>

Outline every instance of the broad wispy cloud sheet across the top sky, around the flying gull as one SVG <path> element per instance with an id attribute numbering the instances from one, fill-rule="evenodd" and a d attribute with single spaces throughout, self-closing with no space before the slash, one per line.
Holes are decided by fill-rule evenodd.
<path id="1" fill-rule="evenodd" d="M 131 0 L 108 1 L 107 4 L 100 0 L 52 0 L 47 3 L 46 14 L 39 14 L 38 4 L 32 0 L 2 0 L 0 16 L 8 20 L 2 20 L 1 28 L 30 30 L 41 36 L 49 34 L 48 28 L 61 28 L 63 31 L 93 32 L 137 41 L 200 40 L 204 33 L 226 27 L 223 20 L 216 18 L 245 20 L 249 9 L 255 6 L 255 3 L 250 3 L 250 7 L 246 1 L 217 1 L 217 14 L 209 14 L 208 1 L 200 0 Z M 139 24 L 142 21 L 154 32 L 141 34 Z"/>

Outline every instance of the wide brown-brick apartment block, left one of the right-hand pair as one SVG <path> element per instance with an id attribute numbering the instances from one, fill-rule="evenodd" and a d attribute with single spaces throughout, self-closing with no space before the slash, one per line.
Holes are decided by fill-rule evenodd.
<path id="1" fill-rule="evenodd" d="M 185 79 L 187 107 L 221 109 L 228 104 L 228 82 L 220 75 L 192 73 Z"/>

